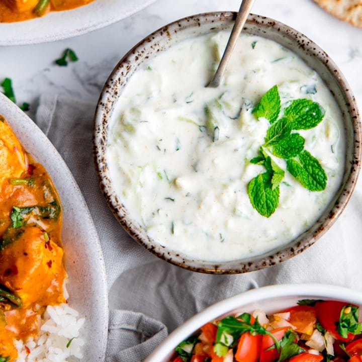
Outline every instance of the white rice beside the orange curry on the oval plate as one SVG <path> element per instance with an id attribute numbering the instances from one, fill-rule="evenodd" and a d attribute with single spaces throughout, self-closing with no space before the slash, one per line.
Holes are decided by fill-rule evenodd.
<path id="1" fill-rule="evenodd" d="M 48 306 L 39 324 L 39 335 L 30 337 L 26 343 L 15 341 L 16 362 L 67 362 L 70 356 L 82 358 L 84 340 L 79 337 L 79 329 L 83 324 L 84 318 L 78 319 L 78 312 L 67 304 Z"/>

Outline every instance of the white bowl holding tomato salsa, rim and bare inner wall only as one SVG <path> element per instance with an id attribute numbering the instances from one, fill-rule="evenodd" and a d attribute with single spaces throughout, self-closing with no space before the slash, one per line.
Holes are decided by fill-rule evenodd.
<path id="1" fill-rule="evenodd" d="M 261 309 L 266 313 L 292 307 L 301 299 L 338 300 L 362 305 L 362 293 L 323 284 L 277 285 L 238 294 L 216 303 L 175 329 L 144 362 L 169 362 L 178 343 L 187 339 L 205 323 L 238 313 Z"/>

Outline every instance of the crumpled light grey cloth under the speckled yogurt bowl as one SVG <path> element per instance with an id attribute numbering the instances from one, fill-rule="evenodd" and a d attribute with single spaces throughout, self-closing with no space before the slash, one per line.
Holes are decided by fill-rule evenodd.
<path id="1" fill-rule="evenodd" d="M 36 122 L 73 173 L 94 218 L 106 263 L 110 324 L 106 361 L 139 362 L 167 334 L 207 306 L 250 288 L 325 283 L 362 290 L 362 185 L 316 244 L 273 267 L 233 276 L 203 275 L 159 260 L 132 240 L 107 206 L 92 155 L 95 105 L 43 95 Z"/>

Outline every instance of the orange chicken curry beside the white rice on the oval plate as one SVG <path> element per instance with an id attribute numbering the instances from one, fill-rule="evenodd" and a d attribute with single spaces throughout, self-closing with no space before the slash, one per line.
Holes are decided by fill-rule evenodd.
<path id="1" fill-rule="evenodd" d="M 52 180 L 0 116 L 0 361 L 39 333 L 47 305 L 66 302 L 61 206 Z"/>

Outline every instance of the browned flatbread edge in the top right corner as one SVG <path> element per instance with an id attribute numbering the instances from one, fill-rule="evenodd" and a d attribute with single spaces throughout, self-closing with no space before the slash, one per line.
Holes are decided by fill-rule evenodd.
<path id="1" fill-rule="evenodd" d="M 337 18 L 362 27 L 362 0 L 314 0 L 314 2 Z"/>

